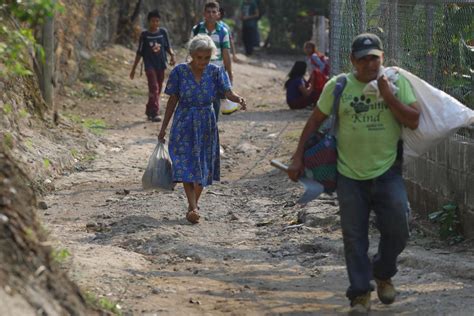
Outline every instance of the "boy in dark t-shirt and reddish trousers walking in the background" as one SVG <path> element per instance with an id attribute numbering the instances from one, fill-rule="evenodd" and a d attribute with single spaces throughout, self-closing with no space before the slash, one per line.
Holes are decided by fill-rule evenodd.
<path id="1" fill-rule="evenodd" d="M 148 13 L 148 29 L 140 35 L 138 50 L 130 72 L 130 79 L 135 78 L 135 70 L 140 59 L 145 64 L 145 74 L 148 81 L 148 102 L 145 114 L 152 122 L 161 121 L 159 117 L 160 93 L 163 86 L 166 69 L 166 53 L 170 55 L 170 65 L 175 64 L 175 54 L 171 48 L 168 31 L 160 27 L 160 13 L 153 10 Z"/>

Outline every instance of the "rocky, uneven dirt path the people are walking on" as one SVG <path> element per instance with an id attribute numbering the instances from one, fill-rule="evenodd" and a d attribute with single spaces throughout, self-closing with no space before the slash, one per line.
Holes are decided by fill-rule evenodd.
<path id="1" fill-rule="evenodd" d="M 310 114 L 284 105 L 291 61 L 234 66 L 250 110 L 220 121 L 223 181 L 205 190 L 204 220 L 192 226 L 181 186 L 141 190 L 159 125 L 144 120 L 144 77 L 127 80 L 133 53 L 114 47 L 96 58 L 114 89 L 79 100 L 74 112 L 104 118 L 109 128 L 87 168 L 54 182 L 42 214 L 58 247 L 72 254 L 73 279 L 133 315 L 346 313 L 337 200 L 295 205 L 301 189 L 268 164 L 288 160 Z M 298 212 L 305 225 L 289 227 Z M 372 314 L 474 312 L 472 252 L 432 247 L 414 231 L 395 279 L 399 299 L 386 307 L 373 294 Z"/>

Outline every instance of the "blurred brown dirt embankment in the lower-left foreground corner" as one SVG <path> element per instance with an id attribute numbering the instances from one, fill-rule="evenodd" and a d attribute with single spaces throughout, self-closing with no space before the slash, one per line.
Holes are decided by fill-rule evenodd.
<path id="1" fill-rule="evenodd" d="M 77 286 L 60 268 L 36 217 L 30 179 L 0 151 L 0 314 L 85 315 Z"/>

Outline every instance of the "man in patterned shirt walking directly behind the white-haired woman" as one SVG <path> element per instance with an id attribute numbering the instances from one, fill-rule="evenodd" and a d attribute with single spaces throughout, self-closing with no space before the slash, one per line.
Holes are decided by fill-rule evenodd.
<path id="1" fill-rule="evenodd" d="M 198 34 L 207 34 L 212 38 L 217 47 L 217 52 L 211 58 L 211 63 L 217 66 L 224 66 L 230 82 L 233 82 L 232 60 L 230 58 L 230 37 L 228 30 L 219 22 L 219 3 L 216 1 L 207 2 L 204 5 L 204 21 L 193 27 L 191 38 Z M 218 95 L 213 101 L 216 120 L 219 120 L 221 99 L 223 95 Z"/>

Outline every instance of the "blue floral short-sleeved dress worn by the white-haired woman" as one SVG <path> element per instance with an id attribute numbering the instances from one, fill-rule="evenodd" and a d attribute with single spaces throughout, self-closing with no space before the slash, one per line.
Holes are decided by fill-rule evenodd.
<path id="1" fill-rule="evenodd" d="M 188 64 L 170 73 L 165 93 L 179 97 L 171 125 L 168 149 L 173 161 L 173 181 L 202 186 L 220 180 L 219 134 L 212 102 L 231 89 L 222 67 L 207 65 L 196 82 Z"/>

